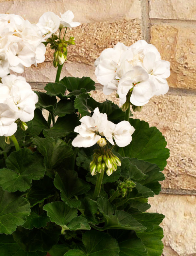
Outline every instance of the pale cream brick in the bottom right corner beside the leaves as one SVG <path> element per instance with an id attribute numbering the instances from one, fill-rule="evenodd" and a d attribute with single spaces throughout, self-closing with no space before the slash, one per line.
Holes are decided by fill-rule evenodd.
<path id="1" fill-rule="evenodd" d="M 149 198 L 152 207 L 148 212 L 165 215 L 161 224 L 164 230 L 164 256 L 196 255 L 196 196 L 160 194 Z"/>

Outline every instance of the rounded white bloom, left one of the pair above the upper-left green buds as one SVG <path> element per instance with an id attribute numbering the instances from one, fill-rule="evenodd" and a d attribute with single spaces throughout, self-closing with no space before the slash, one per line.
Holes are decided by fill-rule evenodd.
<path id="1" fill-rule="evenodd" d="M 41 15 L 37 26 L 41 30 L 41 34 L 45 35 L 44 39 L 54 34 L 60 25 L 59 17 L 52 11 L 45 12 Z"/>

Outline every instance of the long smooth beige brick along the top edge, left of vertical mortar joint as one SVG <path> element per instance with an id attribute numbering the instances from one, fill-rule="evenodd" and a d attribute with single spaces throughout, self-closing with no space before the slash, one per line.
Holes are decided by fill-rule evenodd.
<path id="1" fill-rule="evenodd" d="M 80 23 L 141 18 L 139 0 L 15 0 L 9 4 L 8 1 L 0 2 L 4 12 L 21 15 L 30 22 L 38 22 L 39 17 L 46 11 L 59 14 L 67 10 L 72 10 L 74 20 Z"/>

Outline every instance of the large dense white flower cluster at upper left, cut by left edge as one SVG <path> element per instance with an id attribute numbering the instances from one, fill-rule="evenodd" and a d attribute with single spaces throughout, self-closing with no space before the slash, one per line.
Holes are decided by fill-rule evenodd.
<path id="1" fill-rule="evenodd" d="M 0 77 L 45 60 L 40 29 L 21 16 L 0 14 Z"/>

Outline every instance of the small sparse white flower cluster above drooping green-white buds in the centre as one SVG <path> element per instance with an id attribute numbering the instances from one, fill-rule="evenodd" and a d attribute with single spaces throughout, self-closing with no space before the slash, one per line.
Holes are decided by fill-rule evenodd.
<path id="1" fill-rule="evenodd" d="M 95 108 L 92 117 L 84 116 L 80 122 L 81 125 L 74 129 L 79 134 L 72 142 L 74 147 L 79 148 L 93 146 L 101 139 L 101 136 L 105 136 L 112 145 L 114 145 L 114 139 L 119 147 L 125 147 L 131 142 L 131 135 L 135 131 L 127 121 L 122 121 L 117 125 L 108 121 L 106 113 L 100 113 L 99 108 Z"/>

